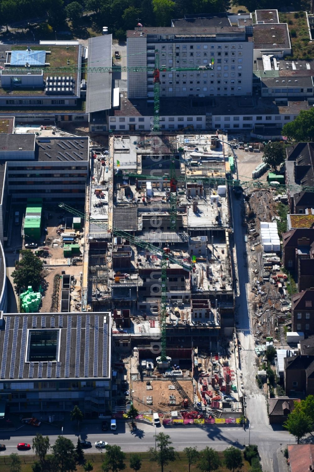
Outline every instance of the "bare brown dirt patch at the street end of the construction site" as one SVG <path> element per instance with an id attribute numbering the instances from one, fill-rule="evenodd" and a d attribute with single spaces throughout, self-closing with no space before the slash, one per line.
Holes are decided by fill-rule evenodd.
<path id="1" fill-rule="evenodd" d="M 132 401 L 133 405 L 139 412 L 148 412 L 152 410 L 156 413 L 164 413 L 169 411 L 176 411 L 178 408 L 182 407 L 182 401 L 184 398 L 189 397 L 193 403 L 193 383 L 192 379 L 187 380 L 178 380 L 178 383 L 181 385 L 183 390 L 186 392 L 184 398 L 180 393 L 175 390 L 169 390 L 168 386 L 173 385 L 171 379 L 168 380 L 150 380 L 153 387 L 152 390 L 146 390 L 146 381 L 133 381 L 132 382 Z M 175 396 L 175 405 L 169 404 L 169 396 Z M 153 404 L 146 404 L 146 397 L 152 396 Z"/>

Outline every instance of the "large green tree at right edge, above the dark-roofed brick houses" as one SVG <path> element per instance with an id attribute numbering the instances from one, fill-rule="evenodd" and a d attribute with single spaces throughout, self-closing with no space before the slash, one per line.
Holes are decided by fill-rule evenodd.
<path id="1" fill-rule="evenodd" d="M 314 108 L 301 110 L 297 118 L 286 123 L 282 135 L 296 141 L 314 141 Z"/>

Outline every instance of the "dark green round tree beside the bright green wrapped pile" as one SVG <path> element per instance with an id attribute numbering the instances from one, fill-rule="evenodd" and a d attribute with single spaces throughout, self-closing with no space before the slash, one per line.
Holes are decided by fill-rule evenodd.
<path id="1" fill-rule="evenodd" d="M 31 285 L 37 290 L 41 284 L 42 261 L 30 249 L 21 251 L 23 259 L 16 265 L 12 272 L 13 282 L 17 288 Z"/>

